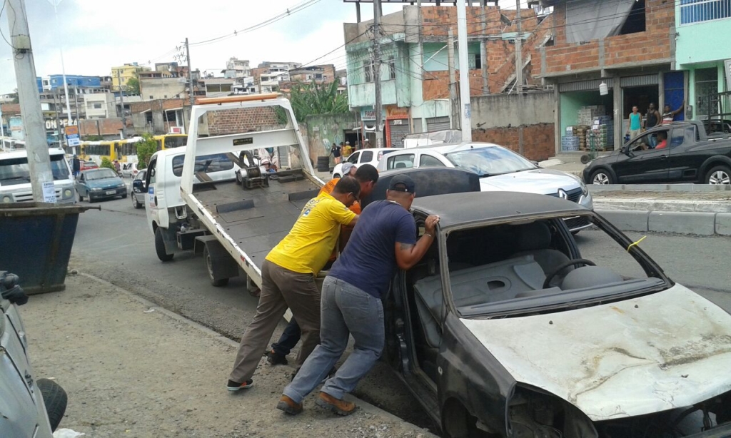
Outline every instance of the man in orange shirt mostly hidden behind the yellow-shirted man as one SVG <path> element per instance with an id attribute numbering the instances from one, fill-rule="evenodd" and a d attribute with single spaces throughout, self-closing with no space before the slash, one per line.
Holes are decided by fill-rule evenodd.
<path id="1" fill-rule="evenodd" d="M 352 163 L 343 164 L 343 172 L 346 174 L 350 174 L 349 170 L 346 170 L 347 165 L 352 166 L 353 169 L 355 169 L 355 166 Z M 376 183 L 378 182 L 378 171 L 371 164 L 361 165 L 360 169 L 357 169 L 357 172 L 355 172 L 353 176 L 358 181 L 358 183 L 360 183 L 360 198 L 364 198 L 370 195 L 371 191 L 373 191 L 373 186 L 376 185 Z M 340 178 L 333 178 L 333 180 L 328 181 L 327 184 L 325 184 L 325 186 L 320 189 L 317 196 L 322 196 L 323 193 L 332 193 L 333 188 L 335 188 L 339 181 Z M 354 202 L 348 208 L 356 215 L 360 215 L 359 202 Z M 351 233 L 351 226 L 342 226 L 340 231 L 341 242 L 347 242 L 347 239 L 349 239 Z M 332 262 L 335 261 L 336 255 L 337 252 L 333 251 L 333 255 L 330 257 L 330 260 L 327 262 L 327 264 L 332 264 Z M 327 268 L 327 265 L 325 267 Z M 295 320 L 295 318 L 292 318 L 291 320 L 289 320 L 287 327 L 284 328 L 284 332 L 281 334 L 281 337 L 279 337 L 279 340 L 277 342 L 274 342 L 271 349 L 265 353 L 265 356 L 267 356 L 267 361 L 272 365 L 287 365 L 287 355 L 292 350 L 292 348 L 297 345 L 297 342 L 299 342 L 299 340 L 300 326 L 298 325 L 297 320 Z M 296 371 L 295 374 L 297 374 Z"/>

